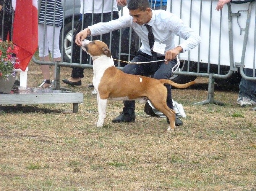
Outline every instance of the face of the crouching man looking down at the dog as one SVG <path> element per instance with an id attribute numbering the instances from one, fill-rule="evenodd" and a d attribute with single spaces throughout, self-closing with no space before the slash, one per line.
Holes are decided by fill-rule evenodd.
<path id="1" fill-rule="evenodd" d="M 133 22 L 139 25 L 144 25 L 152 18 L 151 8 L 147 8 L 146 11 L 141 10 L 129 10 L 129 14 L 133 17 Z"/>

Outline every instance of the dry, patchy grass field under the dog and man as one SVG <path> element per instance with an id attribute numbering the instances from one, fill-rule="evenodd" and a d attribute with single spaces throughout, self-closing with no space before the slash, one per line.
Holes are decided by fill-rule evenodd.
<path id="1" fill-rule="evenodd" d="M 87 84 L 62 87 L 84 93 L 71 104 L 6 105 L 0 111 L 0 190 L 256 190 L 256 111 L 236 104 L 237 87 L 215 87 L 225 106 L 193 105 L 207 99 L 207 78 L 173 89 L 187 117 L 175 132 L 165 118 L 146 115 L 136 103 L 135 123 L 112 123 L 121 101 L 109 101 L 98 128 L 96 95 Z M 68 78 L 71 68 L 62 68 Z M 28 86 L 42 82 L 31 62 Z M 61 98 L 60 98 L 61 99 Z"/>

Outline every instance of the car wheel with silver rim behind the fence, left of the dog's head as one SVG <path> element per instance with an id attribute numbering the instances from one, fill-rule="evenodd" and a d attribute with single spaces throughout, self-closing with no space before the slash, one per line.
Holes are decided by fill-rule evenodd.
<path id="1" fill-rule="evenodd" d="M 75 29 L 73 29 L 73 33 L 74 32 L 75 32 Z M 71 42 L 73 40 L 73 33 L 72 33 L 72 21 L 71 21 L 68 24 L 66 24 L 64 27 L 63 53 L 62 53 L 63 54 L 63 62 L 70 62 L 71 52 L 72 52 Z M 73 42 L 73 45 L 74 45 L 74 43 L 75 42 Z M 59 44 L 60 44 L 60 49 L 61 49 L 61 47 L 62 47 L 62 30 L 60 31 Z"/>

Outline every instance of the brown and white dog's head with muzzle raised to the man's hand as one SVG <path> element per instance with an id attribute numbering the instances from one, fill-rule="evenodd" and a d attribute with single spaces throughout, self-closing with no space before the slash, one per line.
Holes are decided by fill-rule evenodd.
<path id="1" fill-rule="evenodd" d="M 85 39 L 82 41 L 82 49 L 86 51 L 93 60 L 102 55 L 106 55 L 111 58 L 108 46 L 100 40 L 89 41 Z"/>

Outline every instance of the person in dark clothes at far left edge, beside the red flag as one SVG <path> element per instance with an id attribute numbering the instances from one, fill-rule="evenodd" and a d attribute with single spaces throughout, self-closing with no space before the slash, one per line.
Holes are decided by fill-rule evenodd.
<path id="1" fill-rule="evenodd" d="M 3 7 L 4 4 L 5 7 Z M 5 13 L 3 14 L 3 12 Z M 14 11 L 13 7 L 11 6 L 11 0 L 0 0 L 0 38 L 2 38 L 3 41 L 7 40 L 8 33 L 9 39 L 11 40 L 13 13 Z"/>

